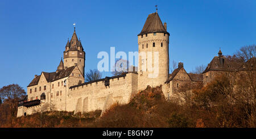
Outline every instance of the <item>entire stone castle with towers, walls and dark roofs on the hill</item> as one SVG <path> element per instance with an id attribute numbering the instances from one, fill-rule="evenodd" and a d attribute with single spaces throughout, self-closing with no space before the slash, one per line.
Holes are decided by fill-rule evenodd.
<path id="1" fill-rule="evenodd" d="M 48 110 L 75 113 L 96 109 L 104 111 L 114 103 L 129 103 L 135 94 L 148 85 L 162 85 L 163 94 L 169 99 L 186 82 L 203 82 L 206 85 L 217 73 L 234 71 L 237 67 L 222 56 L 220 51 L 203 74 L 188 74 L 181 62 L 169 74 L 169 37 L 167 24 L 162 23 L 158 12 L 148 15 L 138 34 L 138 52 L 144 53 L 138 57 L 138 71 L 84 82 L 85 52 L 74 30 L 56 71 L 35 75 L 27 86 L 27 96 L 19 100 L 17 117 L 42 111 L 46 106 Z M 148 52 L 158 52 L 158 56 L 155 53 L 149 56 Z M 158 61 L 159 72 L 156 77 L 150 77 L 155 71 L 146 66 L 150 63 L 149 57 L 152 61 Z M 255 58 L 253 61 L 255 63 Z"/>

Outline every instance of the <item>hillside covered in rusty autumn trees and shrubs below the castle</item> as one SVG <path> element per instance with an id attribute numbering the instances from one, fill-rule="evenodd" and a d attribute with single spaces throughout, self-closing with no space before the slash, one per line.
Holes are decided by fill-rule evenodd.
<path id="1" fill-rule="evenodd" d="M 129 104 L 82 115 L 51 111 L 16 118 L 5 114 L 9 111 L 3 103 L 0 127 L 256 127 L 255 91 L 248 85 L 240 82 L 234 91 L 229 78 L 222 75 L 205 87 L 183 86 L 182 104 L 179 97 L 166 100 L 162 86 L 148 86 Z"/>

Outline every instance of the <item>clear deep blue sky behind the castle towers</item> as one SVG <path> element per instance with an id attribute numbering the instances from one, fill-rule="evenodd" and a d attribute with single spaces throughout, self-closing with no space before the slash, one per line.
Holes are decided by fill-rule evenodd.
<path id="1" fill-rule="evenodd" d="M 18 83 L 26 90 L 35 74 L 55 71 L 73 23 L 86 53 L 85 72 L 97 68 L 100 51 L 137 51 L 137 35 L 155 5 L 171 34 L 170 63 L 184 62 L 188 72 L 207 65 L 220 47 L 226 55 L 256 44 L 255 0 L 1 0 L 0 87 Z"/>

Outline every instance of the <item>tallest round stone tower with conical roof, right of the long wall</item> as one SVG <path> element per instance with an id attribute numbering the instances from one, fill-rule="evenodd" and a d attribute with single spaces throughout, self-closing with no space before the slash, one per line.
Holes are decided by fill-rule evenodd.
<path id="1" fill-rule="evenodd" d="M 138 90 L 148 85 L 159 86 L 169 75 L 169 36 L 167 24 L 162 23 L 157 12 L 148 15 L 138 35 Z"/>

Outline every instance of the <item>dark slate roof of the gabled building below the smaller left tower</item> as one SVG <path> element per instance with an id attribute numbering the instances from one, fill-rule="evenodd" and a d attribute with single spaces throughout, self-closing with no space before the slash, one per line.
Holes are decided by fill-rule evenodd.
<path id="1" fill-rule="evenodd" d="M 76 66 L 71 66 L 67 69 L 55 71 L 55 72 L 52 72 L 52 73 L 42 72 L 42 74 L 44 74 L 44 77 L 46 77 L 47 82 L 53 82 L 53 81 L 56 81 L 58 79 L 68 77 L 72 73 L 73 69 L 75 69 L 75 67 Z M 27 87 L 38 85 L 40 77 L 41 77 L 41 75 L 34 78 Z"/>

